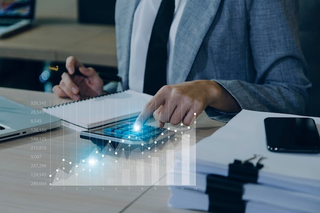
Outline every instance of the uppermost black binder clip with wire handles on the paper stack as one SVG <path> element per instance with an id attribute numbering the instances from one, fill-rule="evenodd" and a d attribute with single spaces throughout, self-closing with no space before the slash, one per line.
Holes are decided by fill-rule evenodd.
<path id="1" fill-rule="evenodd" d="M 256 165 L 250 162 L 250 160 L 254 160 L 257 157 L 259 159 Z M 233 163 L 229 164 L 228 177 L 243 182 L 257 183 L 259 170 L 263 168 L 261 161 L 265 158 L 263 155 L 254 154 L 253 157 L 244 161 L 235 159 Z"/>

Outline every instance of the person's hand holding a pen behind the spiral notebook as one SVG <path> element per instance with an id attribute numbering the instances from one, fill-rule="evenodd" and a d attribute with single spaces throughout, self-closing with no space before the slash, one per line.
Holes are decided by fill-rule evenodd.
<path id="1" fill-rule="evenodd" d="M 63 73 L 59 85 L 52 88 L 59 97 L 79 100 L 80 98 L 99 96 L 103 93 L 103 81 L 94 68 L 84 67 L 75 57 L 66 59 L 65 67 L 68 73 Z M 73 75 L 75 68 L 86 77 Z"/>

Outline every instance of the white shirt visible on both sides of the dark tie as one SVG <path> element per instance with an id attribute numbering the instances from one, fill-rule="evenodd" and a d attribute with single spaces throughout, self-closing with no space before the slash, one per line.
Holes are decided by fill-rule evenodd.
<path id="1" fill-rule="evenodd" d="M 158 12 L 162 0 L 141 0 L 135 10 L 130 46 L 129 62 L 129 88 L 143 92 L 146 58 L 151 36 L 153 22 Z M 173 70 L 172 58 L 175 35 L 178 24 L 185 9 L 187 0 L 175 0 L 175 9 L 168 39 L 168 62 L 167 62 L 167 82 L 168 76 Z"/>

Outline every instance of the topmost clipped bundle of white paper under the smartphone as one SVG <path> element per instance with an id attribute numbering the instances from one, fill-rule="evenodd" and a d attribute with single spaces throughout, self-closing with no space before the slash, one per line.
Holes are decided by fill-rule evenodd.
<path id="1" fill-rule="evenodd" d="M 228 175 L 234 159 L 266 156 L 258 183 L 320 197 L 320 154 L 273 153 L 267 150 L 264 119 L 300 117 L 242 110 L 225 126 L 196 145 L 197 173 Z M 312 117 L 320 130 L 320 118 Z M 257 160 L 252 161 L 254 164 Z"/>

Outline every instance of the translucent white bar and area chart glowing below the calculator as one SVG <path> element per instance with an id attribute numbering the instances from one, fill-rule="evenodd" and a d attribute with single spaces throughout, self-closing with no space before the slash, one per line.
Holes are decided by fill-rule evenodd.
<path id="1" fill-rule="evenodd" d="M 195 125 L 167 127 L 176 134 L 147 146 L 115 147 L 110 140 L 101 147 L 87 140 L 87 156 L 62 158 L 50 185 L 195 185 Z"/>

